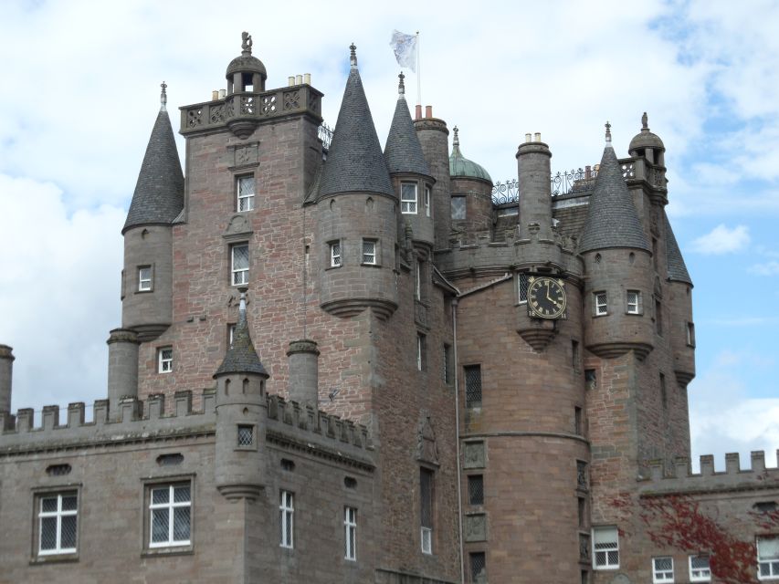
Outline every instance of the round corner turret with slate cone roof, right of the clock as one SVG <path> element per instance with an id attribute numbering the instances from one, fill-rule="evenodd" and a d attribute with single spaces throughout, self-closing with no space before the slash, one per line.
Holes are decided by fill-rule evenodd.
<path id="1" fill-rule="evenodd" d="M 652 248 L 627 191 L 606 124 L 606 143 L 579 244 L 584 284 L 584 346 L 605 359 L 654 348 L 644 304 L 653 296 Z"/>

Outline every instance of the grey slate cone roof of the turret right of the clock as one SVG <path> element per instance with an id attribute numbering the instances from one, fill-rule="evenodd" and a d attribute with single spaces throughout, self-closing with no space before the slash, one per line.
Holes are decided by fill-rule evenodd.
<path id="1" fill-rule="evenodd" d="M 611 136 L 606 136 L 603 159 L 595 178 L 595 188 L 590 196 L 587 218 L 579 241 L 579 253 L 607 247 L 632 247 L 651 252 L 633 198 L 627 192 L 622 169 L 611 147 Z"/>

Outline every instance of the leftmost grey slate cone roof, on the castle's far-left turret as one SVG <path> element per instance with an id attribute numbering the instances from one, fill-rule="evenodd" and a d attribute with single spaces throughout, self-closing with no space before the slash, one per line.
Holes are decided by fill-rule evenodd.
<path id="1" fill-rule="evenodd" d="M 170 224 L 184 208 L 184 173 L 164 99 L 163 91 L 163 107 L 154 121 L 122 234 L 138 225 Z"/>

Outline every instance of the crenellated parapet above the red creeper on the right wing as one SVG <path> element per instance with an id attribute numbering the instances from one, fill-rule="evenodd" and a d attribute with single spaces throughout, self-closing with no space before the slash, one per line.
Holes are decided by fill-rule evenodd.
<path id="1" fill-rule="evenodd" d="M 779 455 L 779 451 L 777 451 Z M 639 481 L 642 495 L 695 494 L 746 489 L 779 489 L 779 466 L 766 467 L 765 453 L 753 451 L 752 466 L 742 468 L 738 453 L 725 454 L 725 470 L 714 468 L 714 456 L 700 456 L 700 473 L 693 473 L 690 459 L 678 457 L 672 464 L 650 461 L 650 475 Z"/>

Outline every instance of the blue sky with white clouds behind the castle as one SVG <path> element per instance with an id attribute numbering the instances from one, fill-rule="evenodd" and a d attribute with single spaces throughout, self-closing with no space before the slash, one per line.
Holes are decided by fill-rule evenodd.
<path id="1" fill-rule="evenodd" d="M 394 29 L 420 32 L 421 94 L 494 181 L 526 132 L 553 172 L 617 156 L 649 127 L 666 146 L 668 215 L 695 283 L 692 454 L 779 448 L 779 3 L 9 0 L 0 20 L 0 343 L 12 410 L 106 395 L 121 324 L 121 226 L 167 83 L 168 110 L 224 89 L 241 32 L 268 89 L 311 73 L 334 125 L 357 46 L 384 143 Z M 406 70 L 406 95 L 417 78 Z M 184 141 L 178 138 L 180 154 Z M 89 417 L 90 414 L 88 414 Z"/>

